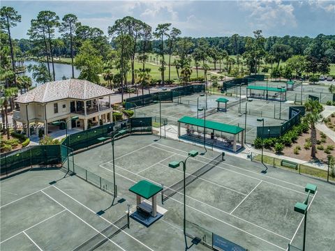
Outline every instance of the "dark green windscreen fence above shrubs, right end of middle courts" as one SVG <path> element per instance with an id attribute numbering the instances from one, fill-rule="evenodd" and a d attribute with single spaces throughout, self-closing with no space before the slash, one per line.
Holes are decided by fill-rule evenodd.
<path id="1" fill-rule="evenodd" d="M 304 107 L 290 107 L 288 121 L 285 121 L 281 126 L 265 126 L 264 128 L 258 126 L 257 137 L 279 137 L 300 123 L 301 116 L 304 116 Z"/>

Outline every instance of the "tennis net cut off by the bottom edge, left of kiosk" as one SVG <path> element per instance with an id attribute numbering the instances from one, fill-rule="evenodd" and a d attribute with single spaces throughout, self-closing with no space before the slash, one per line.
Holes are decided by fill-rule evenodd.
<path id="1" fill-rule="evenodd" d="M 122 216 L 119 220 L 116 220 L 111 225 L 103 229 L 103 231 L 99 232 L 95 236 L 89 238 L 87 241 L 79 245 L 73 251 L 87 251 L 87 250 L 95 250 L 108 241 L 113 236 L 117 235 L 120 231 L 129 227 L 129 214 Z"/>

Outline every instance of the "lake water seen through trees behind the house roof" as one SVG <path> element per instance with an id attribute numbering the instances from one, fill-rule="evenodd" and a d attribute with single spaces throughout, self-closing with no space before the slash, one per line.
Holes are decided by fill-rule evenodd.
<path id="1" fill-rule="evenodd" d="M 24 61 L 23 63 L 23 65 L 26 67 L 29 66 L 29 64 L 37 65 L 38 61 L 28 60 L 28 61 Z M 47 63 L 44 63 L 44 64 L 45 66 L 47 66 Z M 52 75 L 52 63 L 49 63 L 49 65 L 50 65 L 50 72 Z M 32 73 L 29 73 L 29 71 L 26 70 L 24 75 L 31 77 L 31 80 L 33 81 L 33 86 L 36 86 L 36 82 L 32 77 Z M 63 76 L 65 76 L 66 78 L 70 78 L 72 77 L 72 66 L 65 64 L 65 63 L 54 63 L 54 75 L 55 75 L 56 80 L 63 79 Z M 79 77 L 79 75 L 80 75 L 80 70 L 77 70 L 75 68 L 75 77 Z"/>

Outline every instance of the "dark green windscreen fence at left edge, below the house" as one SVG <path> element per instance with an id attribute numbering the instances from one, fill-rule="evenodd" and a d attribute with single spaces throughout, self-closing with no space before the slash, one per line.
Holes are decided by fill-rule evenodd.
<path id="1" fill-rule="evenodd" d="M 61 164 L 59 145 L 28 146 L 1 154 L 1 176 L 8 175 L 24 167 L 59 164 Z"/>

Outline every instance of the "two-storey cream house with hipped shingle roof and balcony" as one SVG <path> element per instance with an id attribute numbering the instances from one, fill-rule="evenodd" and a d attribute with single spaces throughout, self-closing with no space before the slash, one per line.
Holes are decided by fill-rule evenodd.
<path id="1" fill-rule="evenodd" d="M 113 92 L 98 84 L 83 79 L 65 79 L 47 82 L 19 96 L 15 102 L 20 109 L 13 112 L 13 123 L 23 123 L 27 136 L 37 133 L 38 128 L 48 130 L 64 129 L 52 126 L 53 121 L 68 121 L 71 117 L 78 119 L 68 121 L 67 127 L 86 130 L 90 126 L 112 122 Z M 34 126 L 32 126 L 34 125 Z M 48 129 L 49 125 L 49 129 Z"/>

